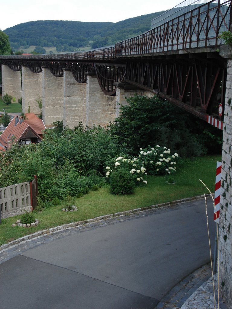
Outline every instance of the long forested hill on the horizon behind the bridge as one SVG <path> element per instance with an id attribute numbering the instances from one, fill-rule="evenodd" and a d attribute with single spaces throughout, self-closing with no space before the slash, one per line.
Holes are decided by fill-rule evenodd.
<path id="1" fill-rule="evenodd" d="M 98 48 L 148 31 L 151 20 L 163 12 L 141 15 L 117 23 L 38 20 L 21 23 L 4 32 L 9 36 L 13 49 L 26 49 L 31 45 L 57 47 L 57 51 L 74 51 L 83 46 Z"/>

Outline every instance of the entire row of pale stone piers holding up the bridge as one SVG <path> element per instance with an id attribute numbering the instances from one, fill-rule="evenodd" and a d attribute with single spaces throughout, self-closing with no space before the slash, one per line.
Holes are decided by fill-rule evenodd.
<path id="1" fill-rule="evenodd" d="M 70 69 L 64 69 L 62 77 L 55 77 L 48 68 L 41 73 L 32 73 L 22 66 L 22 86 L 20 71 L 13 71 L 2 65 L 2 95 L 6 93 L 22 97 L 23 112 L 40 114 L 36 100 L 42 98 L 43 121 L 51 127 L 55 121 L 63 120 L 64 126 L 73 129 L 82 122 L 85 126 L 106 127 L 119 116 L 119 104 L 127 104 L 125 97 L 140 95 L 153 96 L 151 92 L 117 87 L 117 95 L 105 95 L 94 73 L 87 74 L 87 83 L 78 83 Z"/>

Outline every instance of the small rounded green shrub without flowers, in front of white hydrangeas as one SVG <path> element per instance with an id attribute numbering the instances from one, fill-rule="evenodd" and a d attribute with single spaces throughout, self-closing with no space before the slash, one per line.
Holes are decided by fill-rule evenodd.
<path id="1" fill-rule="evenodd" d="M 133 175 L 127 168 L 115 170 L 110 176 L 110 190 L 113 194 L 132 194 L 135 188 Z"/>

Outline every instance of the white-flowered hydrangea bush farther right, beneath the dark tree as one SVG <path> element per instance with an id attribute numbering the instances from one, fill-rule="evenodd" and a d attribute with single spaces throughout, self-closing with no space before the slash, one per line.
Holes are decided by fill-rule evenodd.
<path id="1" fill-rule="evenodd" d="M 149 175 L 172 174 L 176 171 L 178 154 L 171 154 L 167 147 L 159 145 L 151 148 L 140 148 L 139 159 Z"/>

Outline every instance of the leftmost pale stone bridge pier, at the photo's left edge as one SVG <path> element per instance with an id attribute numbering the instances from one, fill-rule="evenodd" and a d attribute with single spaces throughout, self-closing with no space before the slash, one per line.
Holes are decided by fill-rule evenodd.
<path id="1" fill-rule="evenodd" d="M 6 93 L 16 102 L 22 97 L 21 71 L 13 71 L 9 66 L 2 65 L 2 95 Z"/>

